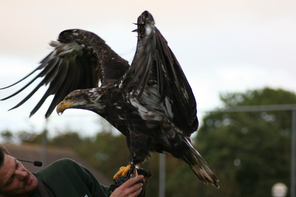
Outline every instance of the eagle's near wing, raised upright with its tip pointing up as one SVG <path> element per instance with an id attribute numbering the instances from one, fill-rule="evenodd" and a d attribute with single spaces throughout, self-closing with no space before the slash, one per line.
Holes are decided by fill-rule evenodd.
<path id="1" fill-rule="evenodd" d="M 127 88 L 138 99 L 157 87 L 163 110 L 185 136 L 197 130 L 196 101 L 192 89 L 168 43 L 145 11 L 138 17 L 136 53 L 126 76 Z"/>

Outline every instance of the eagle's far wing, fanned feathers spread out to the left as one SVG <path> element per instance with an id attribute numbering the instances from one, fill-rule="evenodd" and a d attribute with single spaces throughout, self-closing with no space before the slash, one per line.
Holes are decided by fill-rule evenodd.
<path id="1" fill-rule="evenodd" d="M 37 87 L 12 109 L 26 102 L 41 86 L 49 84 L 44 96 L 30 113 L 32 116 L 47 97 L 54 95 L 45 114 L 47 118 L 68 93 L 76 89 L 98 87 L 99 81 L 102 82 L 102 86 L 110 84 L 120 78 L 129 68 L 126 60 L 118 56 L 105 44 L 104 40 L 92 32 L 78 29 L 65 30 L 60 33 L 59 39 L 52 41 L 50 45 L 55 48 L 54 51 L 40 62 L 40 66 L 15 84 L 37 70 L 41 72 L 22 89 L 2 99 L 6 100 L 17 95 L 37 78 L 43 77 Z"/>

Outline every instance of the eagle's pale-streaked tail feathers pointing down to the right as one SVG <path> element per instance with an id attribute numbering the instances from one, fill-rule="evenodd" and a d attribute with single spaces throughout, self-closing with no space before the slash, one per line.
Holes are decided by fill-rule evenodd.
<path id="1" fill-rule="evenodd" d="M 212 170 L 207 165 L 205 159 L 195 150 L 192 145 L 192 141 L 186 138 L 186 142 L 189 145 L 190 151 L 188 154 L 184 154 L 184 161 L 190 166 L 194 174 L 204 183 L 211 183 L 216 188 L 219 188 L 218 178 L 214 175 Z"/>

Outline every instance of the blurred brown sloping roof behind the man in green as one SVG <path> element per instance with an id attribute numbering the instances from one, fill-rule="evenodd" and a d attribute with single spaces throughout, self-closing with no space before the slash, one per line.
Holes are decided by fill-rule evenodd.
<path id="1" fill-rule="evenodd" d="M 22 143 L 20 145 L 3 145 L 8 149 L 10 154 L 16 157 L 17 159 L 22 159 L 31 162 L 41 161 L 43 163 L 42 167 L 37 167 L 34 166 L 32 163 L 22 162 L 24 167 L 30 172 L 36 172 L 59 159 L 69 158 L 73 159 L 74 161 L 80 163 L 81 165 L 89 169 L 101 184 L 106 186 L 110 186 L 112 184 L 112 178 L 107 179 L 101 172 L 99 172 L 94 167 L 85 162 L 83 159 L 75 155 L 71 149 L 63 147 L 46 146 L 46 150 L 44 150 L 41 145 L 28 143 Z M 42 152 L 46 152 L 46 157 L 42 157 Z"/>

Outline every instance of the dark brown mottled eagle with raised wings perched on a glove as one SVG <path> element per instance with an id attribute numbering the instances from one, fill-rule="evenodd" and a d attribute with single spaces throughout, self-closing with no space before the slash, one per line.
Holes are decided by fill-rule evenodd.
<path id="1" fill-rule="evenodd" d="M 131 66 L 94 33 L 65 30 L 51 42 L 54 51 L 23 79 L 37 70 L 40 73 L 2 100 L 42 77 L 40 84 L 12 109 L 41 86 L 49 85 L 30 116 L 54 95 L 46 118 L 56 106 L 57 113 L 68 108 L 93 111 L 126 136 L 130 162 L 140 166 L 152 152 L 167 152 L 186 162 L 200 180 L 219 188 L 218 179 L 190 139 L 198 127 L 196 101 L 180 64 L 149 12 L 143 12 L 136 25 L 138 40 Z"/>

